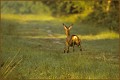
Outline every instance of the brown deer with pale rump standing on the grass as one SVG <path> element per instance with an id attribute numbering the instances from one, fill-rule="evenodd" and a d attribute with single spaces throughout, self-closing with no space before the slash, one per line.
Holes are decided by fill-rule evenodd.
<path id="1" fill-rule="evenodd" d="M 80 47 L 80 51 L 82 51 L 81 47 L 81 39 L 77 35 L 70 35 L 70 29 L 72 28 L 73 24 L 71 24 L 69 27 L 67 27 L 63 23 L 65 33 L 66 33 L 66 40 L 65 40 L 65 48 L 64 48 L 64 53 L 67 51 L 69 53 L 69 47 L 73 47 L 73 52 L 75 51 L 74 46 L 77 45 Z"/>

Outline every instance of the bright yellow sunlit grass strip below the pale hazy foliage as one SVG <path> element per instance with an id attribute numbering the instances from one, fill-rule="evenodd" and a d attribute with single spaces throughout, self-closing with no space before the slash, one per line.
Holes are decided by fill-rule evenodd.
<path id="1" fill-rule="evenodd" d="M 52 16 L 49 15 L 16 15 L 16 14 L 1 14 L 1 19 L 8 20 L 19 20 L 19 21 L 49 21 L 54 20 Z"/>

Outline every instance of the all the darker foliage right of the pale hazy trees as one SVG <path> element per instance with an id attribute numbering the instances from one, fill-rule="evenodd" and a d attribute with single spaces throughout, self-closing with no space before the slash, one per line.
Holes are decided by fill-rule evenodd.
<path id="1" fill-rule="evenodd" d="M 80 14 L 79 21 L 95 26 L 107 27 L 119 31 L 119 1 L 117 0 L 81 0 L 81 1 L 42 1 L 50 7 L 53 16 Z M 89 14 L 82 18 L 83 14 Z M 94 22 L 94 23 L 93 23 Z"/>

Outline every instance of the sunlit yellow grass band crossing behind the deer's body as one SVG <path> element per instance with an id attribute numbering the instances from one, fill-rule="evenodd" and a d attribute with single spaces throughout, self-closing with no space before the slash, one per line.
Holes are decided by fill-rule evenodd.
<path id="1" fill-rule="evenodd" d="M 97 35 L 78 35 L 80 39 L 82 40 L 99 40 L 99 39 L 118 39 L 119 34 L 115 33 L 113 31 L 106 31 L 106 32 L 101 32 L 98 33 Z M 61 35 L 61 34 L 55 34 L 52 36 L 22 36 L 23 38 L 32 38 L 32 39 L 39 39 L 39 38 L 52 38 L 52 39 L 57 39 L 57 38 L 66 38 L 66 35 Z"/>

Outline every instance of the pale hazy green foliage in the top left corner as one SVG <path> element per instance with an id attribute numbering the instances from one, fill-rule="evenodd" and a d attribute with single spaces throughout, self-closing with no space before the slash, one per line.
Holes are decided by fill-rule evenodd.
<path id="1" fill-rule="evenodd" d="M 1 12 L 12 14 L 51 14 L 49 8 L 40 1 L 2 1 Z"/>

